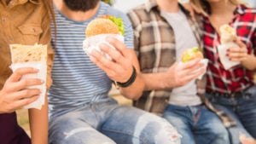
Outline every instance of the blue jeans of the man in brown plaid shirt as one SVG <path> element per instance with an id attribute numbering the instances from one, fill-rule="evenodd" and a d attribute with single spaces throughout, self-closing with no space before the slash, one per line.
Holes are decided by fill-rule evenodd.
<path id="1" fill-rule="evenodd" d="M 203 105 L 181 107 L 169 104 L 163 118 L 183 136 L 182 144 L 230 144 L 228 132 L 221 120 Z"/>

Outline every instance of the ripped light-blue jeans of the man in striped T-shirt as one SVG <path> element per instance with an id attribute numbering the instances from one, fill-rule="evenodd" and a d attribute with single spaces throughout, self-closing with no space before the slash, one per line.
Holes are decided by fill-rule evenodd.
<path id="1" fill-rule="evenodd" d="M 116 101 L 96 102 L 49 121 L 49 144 L 178 144 L 164 118 Z"/>

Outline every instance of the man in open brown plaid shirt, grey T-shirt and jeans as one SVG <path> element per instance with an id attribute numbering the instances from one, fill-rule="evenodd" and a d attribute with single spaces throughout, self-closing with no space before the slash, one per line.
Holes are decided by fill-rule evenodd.
<path id="1" fill-rule="evenodd" d="M 229 144 L 218 115 L 198 94 L 200 60 L 180 63 L 183 51 L 201 45 L 201 26 L 177 0 L 148 0 L 128 12 L 146 91 L 135 107 L 162 115 L 177 128 L 182 144 Z"/>

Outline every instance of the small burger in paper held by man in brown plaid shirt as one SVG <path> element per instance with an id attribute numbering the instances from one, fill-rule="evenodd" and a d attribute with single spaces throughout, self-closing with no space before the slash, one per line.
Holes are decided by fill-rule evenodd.
<path id="1" fill-rule="evenodd" d="M 201 52 L 201 49 L 199 49 L 198 47 L 193 47 L 193 48 L 185 50 L 183 52 L 181 61 L 183 63 L 186 63 L 189 60 L 195 60 L 195 59 L 201 59 L 200 62 L 204 64 L 205 68 L 207 67 L 208 60 L 204 59 L 204 56 L 203 56 L 203 54 Z M 196 71 L 198 71 L 198 70 L 196 70 Z M 201 79 L 203 74 L 201 74 L 201 76 L 199 76 L 198 79 Z"/>

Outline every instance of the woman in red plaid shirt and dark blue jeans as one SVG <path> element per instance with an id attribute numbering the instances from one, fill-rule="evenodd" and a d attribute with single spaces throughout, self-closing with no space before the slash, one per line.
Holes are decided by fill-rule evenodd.
<path id="1" fill-rule="evenodd" d="M 209 59 L 207 67 L 207 98 L 215 107 L 236 120 L 228 130 L 231 143 L 240 143 L 239 135 L 256 138 L 256 86 L 253 70 L 256 68 L 256 9 L 249 9 L 238 0 L 194 0 L 204 10 L 204 53 Z M 228 24 L 236 29 L 236 48 L 227 50 L 231 61 L 240 65 L 224 69 L 219 55 L 220 26 Z"/>

